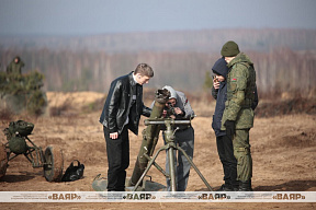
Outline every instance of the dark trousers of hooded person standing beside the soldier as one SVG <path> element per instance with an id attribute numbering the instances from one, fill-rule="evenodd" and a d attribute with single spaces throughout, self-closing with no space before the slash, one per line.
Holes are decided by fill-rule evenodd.
<path id="1" fill-rule="evenodd" d="M 227 187 L 238 187 L 237 160 L 234 155 L 232 140 L 225 135 L 216 137 L 217 152 L 223 164 L 224 180 Z"/>

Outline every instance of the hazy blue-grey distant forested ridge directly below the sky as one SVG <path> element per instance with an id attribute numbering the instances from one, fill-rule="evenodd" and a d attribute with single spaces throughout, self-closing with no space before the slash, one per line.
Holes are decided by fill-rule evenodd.
<path id="1" fill-rule="evenodd" d="M 292 50 L 315 50 L 316 30 L 232 28 L 167 32 L 135 32 L 90 36 L 0 36 L 0 49 L 55 51 L 71 50 L 108 54 L 137 51 L 217 52 L 235 40 L 244 51 L 266 51 L 289 47 Z"/>

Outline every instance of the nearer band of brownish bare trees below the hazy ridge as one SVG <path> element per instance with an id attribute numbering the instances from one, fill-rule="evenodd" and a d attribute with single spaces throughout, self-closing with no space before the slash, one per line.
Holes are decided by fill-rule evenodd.
<path id="1" fill-rule="evenodd" d="M 2 59 L 13 58 L 14 52 L 2 52 Z M 280 48 L 271 52 L 246 54 L 255 63 L 260 92 L 306 92 L 315 89 L 315 52 Z M 169 84 L 179 90 L 198 92 L 203 89 L 207 73 L 212 74 L 212 67 L 219 58 L 219 54 L 192 51 L 106 54 L 47 49 L 21 51 L 20 56 L 25 62 L 24 72 L 37 70 L 45 75 L 47 91 L 66 92 L 108 92 L 113 79 L 133 71 L 139 62 L 147 62 L 154 68 L 155 77 L 149 88 Z"/>

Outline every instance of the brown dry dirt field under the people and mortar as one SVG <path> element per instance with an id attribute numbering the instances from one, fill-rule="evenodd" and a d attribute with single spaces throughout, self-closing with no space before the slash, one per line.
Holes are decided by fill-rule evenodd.
<path id="1" fill-rule="evenodd" d="M 65 100 L 57 93 L 47 94 L 50 106 L 61 106 Z M 91 98 L 90 98 L 91 96 Z M 108 161 L 100 110 L 87 112 L 93 101 L 102 100 L 102 94 L 84 93 L 70 96 L 71 109 L 59 116 L 31 118 L 14 116 L 11 120 L 24 119 L 35 124 L 32 139 L 37 145 L 60 145 L 65 158 L 65 168 L 72 160 L 86 165 L 84 177 L 72 183 L 48 183 L 42 168 L 33 168 L 24 156 L 9 162 L 4 177 L 0 179 L 0 191 L 93 191 L 91 184 L 98 174 L 106 177 Z M 64 100 L 64 101 L 63 101 Z M 78 101 L 76 101 L 78 100 Z M 71 103 L 70 103 L 71 102 Z M 58 104 L 60 103 L 60 104 Z M 83 106 L 79 106 L 86 104 Z M 65 104 L 65 103 L 64 103 Z M 149 104 L 147 104 L 149 105 Z M 205 116 L 205 107 L 192 103 L 198 117 L 192 121 L 195 129 L 193 162 L 216 189 L 223 184 L 223 170 L 217 155 L 215 136 L 211 128 L 211 116 Z M 68 107 L 69 108 L 69 107 Z M 210 104 L 208 113 L 213 113 Z M 87 113 L 87 114 L 86 114 Z M 201 117 L 200 117 L 201 116 Z M 203 116 L 203 117 L 202 117 Z M 142 120 L 143 121 L 143 120 Z M 0 129 L 8 127 L 9 120 L 1 119 Z M 143 130 L 145 126 L 140 125 Z M 4 135 L 0 133 L 1 142 Z M 131 164 L 127 176 L 132 175 L 139 151 L 142 136 L 129 135 Z M 316 115 L 296 114 L 269 118 L 256 118 L 250 131 L 253 159 L 252 187 L 256 191 L 316 191 Z M 161 139 L 157 148 L 161 147 Z M 159 155 L 160 165 L 165 155 Z M 165 178 L 156 170 L 149 174 L 153 180 L 165 185 Z M 188 191 L 207 190 L 194 170 L 191 171 Z M 0 203 L 1 209 L 314 209 L 316 203 Z"/>

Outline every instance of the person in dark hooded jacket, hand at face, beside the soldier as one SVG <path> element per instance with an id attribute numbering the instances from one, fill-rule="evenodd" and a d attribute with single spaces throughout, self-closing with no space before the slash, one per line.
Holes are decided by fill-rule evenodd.
<path id="1" fill-rule="evenodd" d="M 227 62 L 224 58 L 219 58 L 212 68 L 215 74 L 213 79 L 212 95 L 216 100 L 215 113 L 213 115 L 212 128 L 216 136 L 217 152 L 224 170 L 224 182 L 218 191 L 237 191 L 237 160 L 234 156 L 233 141 L 226 135 L 226 130 L 222 130 L 222 117 L 226 102 L 226 77 L 228 73 Z"/>

